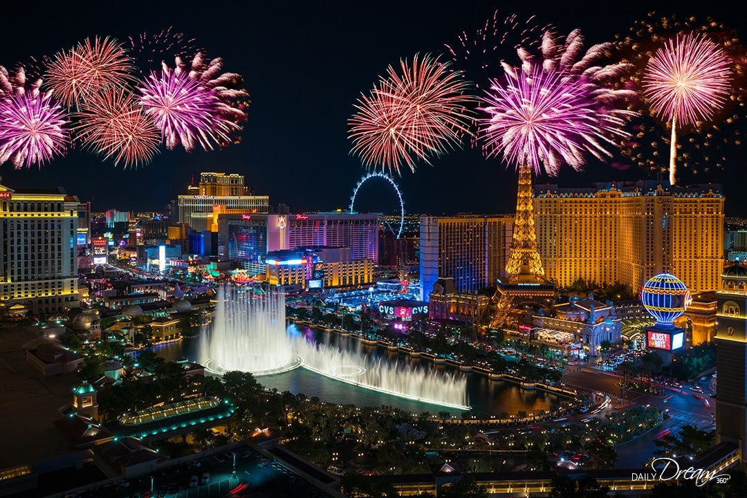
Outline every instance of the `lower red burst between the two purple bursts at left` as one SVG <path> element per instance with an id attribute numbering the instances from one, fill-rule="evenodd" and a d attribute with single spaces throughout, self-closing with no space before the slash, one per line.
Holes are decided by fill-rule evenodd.
<path id="1" fill-rule="evenodd" d="M 161 134 L 137 99 L 124 89 L 95 93 L 76 113 L 78 140 L 114 164 L 148 164 L 158 152 Z"/>

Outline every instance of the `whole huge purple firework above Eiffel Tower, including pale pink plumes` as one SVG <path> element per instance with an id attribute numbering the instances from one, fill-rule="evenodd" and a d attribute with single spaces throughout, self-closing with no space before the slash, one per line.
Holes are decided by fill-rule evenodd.
<path id="1" fill-rule="evenodd" d="M 562 162 L 579 170 L 586 155 L 611 157 L 613 137 L 627 137 L 624 125 L 632 111 L 622 109 L 634 92 L 611 81 L 626 66 L 601 60 L 608 44 L 583 52 L 580 31 L 562 41 L 545 32 L 539 53 L 519 48 L 518 67 L 503 63 L 505 78 L 493 80 L 483 96 L 480 140 L 488 157 L 502 155 L 521 170 L 557 175 Z"/>

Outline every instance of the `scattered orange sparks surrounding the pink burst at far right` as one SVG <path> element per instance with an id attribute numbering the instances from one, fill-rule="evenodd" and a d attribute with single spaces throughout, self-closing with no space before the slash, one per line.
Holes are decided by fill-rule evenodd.
<path id="1" fill-rule="evenodd" d="M 743 134 L 743 123 L 747 119 L 747 48 L 740 41 L 737 31 L 714 19 L 695 17 L 658 16 L 649 13 L 645 19 L 636 21 L 627 34 L 618 35 L 614 43 L 613 57 L 630 63 L 630 79 L 644 95 L 643 78 L 648 61 L 660 49 L 666 49 L 669 40 L 683 34 L 701 34 L 724 52 L 731 68 L 731 84 L 728 96 L 719 108 L 713 109 L 709 119 L 698 119 L 690 125 L 677 123 L 675 141 L 678 175 L 683 168 L 698 175 L 714 167 L 721 168 L 737 158 Z M 650 169 L 657 175 L 669 173 L 670 164 L 659 160 L 667 152 L 672 154 L 671 137 L 661 134 L 661 120 L 647 99 L 635 103 L 639 118 L 632 122 L 635 134 L 632 140 L 624 141 L 622 152 L 638 166 Z M 669 125 L 669 123 L 668 123 Z M 666 150 L 668 149 L 668 150 Z"/>

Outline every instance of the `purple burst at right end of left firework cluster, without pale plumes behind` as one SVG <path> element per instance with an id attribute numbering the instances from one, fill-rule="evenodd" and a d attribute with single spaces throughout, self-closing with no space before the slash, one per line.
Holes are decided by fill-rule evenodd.
<path id="1" fill-rule="evenodd" d="M 140 92 L 143 110 L 161 129 L 170 150 L 180 143 L 187 151 L 197 144 L 213 150 L 214 144 L 228 142 L 229 133 L 238 128 L 218 111 L 216 92 L 188 73 L 168 68 L 160 75 L 151 73 L 141 82 Z"/>

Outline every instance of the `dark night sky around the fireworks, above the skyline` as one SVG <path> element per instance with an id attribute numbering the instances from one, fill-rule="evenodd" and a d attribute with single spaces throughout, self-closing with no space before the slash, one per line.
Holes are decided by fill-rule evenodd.
<path id="1" fill-rule="evenodd" d="M 292 211 L 347 208 L 353 187 L 366 172 L 350 155 L 347 138 L 347 119 L 360 94 L 368 93 L 387 66 L 402 57 L 431 53 L 450 60 L 444 44 L 459 48 L 458 35 L 477 31 L 499 7 L 501 19 L 512 13 L 521 19 L 536 15 L 537 25 L 553 24 L 560 34 L 580 28 L 586 48 L 627 33 L 649 10 L 661 16 L 712 16 L 747 39 L 747 7 L 727 7 L 727 2 L 692 7 L 598 0 L 64 3 L 45 6 L 16 0 L 4 5 L 0 65 L 10 68 L 30 56 L 51 56 L 85 37 L 111 36 L 126 42 L 130 36 L 171 27 L 195 39 L 208 57 L 223 57 L 225 71 L 243 75 L 252 101 L 241 143 L 222 151 L 186 153 L 161 147 L 151 164 L 138 169 L 115 167 L 81 150 L 41 169 L 16 171 L 10 163 L 0 165 L 1 183 L 8 187 L 60 185 L 82 201 L 90 200 L 94 211 L 160 211 L 185 193 L 186 185 L 202 171 L 241 173 L 255 193 L 270 196 L 271 205 L 283 203 Z M 515 52 L 506 49 L 500 54 L 498 59 L 516 62 Z M 666 133 L 663 128 L 661 132 Z M 741 169 L 746 158 L 737 148 L 725 168 L 684 173 L 684 179 L 722 182 L 726 214 L 747 216 L 747 207 L 737 199 L 743 196 Z M 651 178 L 630 162 L 624 157 L 610 164 L 590 160 L 583 173 L 542 175 L 537 182 L 588 187 L 594 181 Z M 403 171 L 395 181 L 410 214 L 512 213 L 515 206 L 515 173 L 496 159 L 484 159 L 468 144 L 436 159 L 433 166 L 420 164 L 415 173 Z M 383 182 L 371 181 L 356 200 L 359 211 L 390 212 L 393 207 L 394 195 Z"/>

